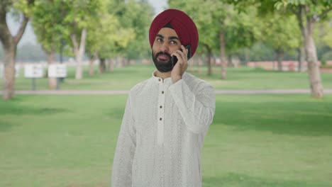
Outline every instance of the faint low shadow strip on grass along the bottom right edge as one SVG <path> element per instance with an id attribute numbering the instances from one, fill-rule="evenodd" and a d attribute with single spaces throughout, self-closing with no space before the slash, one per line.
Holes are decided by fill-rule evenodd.
<path id="1" fill-rule="evenodd" d="M 306 181 L 286 181 L 276 180 L 268 178 L 259 178 L 253 176 L 247 176 L 242 174 L 226 174 L 221 177 L 203 177 L 204 187 L 215 187 L 215 186 L 238 186 L 238 187 L 259 187 L 259 186 L 273 186 L 273 187 L 309 187 L 309 186 L 322 186 L 322 184 L 307 183 Z M 327 187 L 327 185 L 326 185 Z"/>

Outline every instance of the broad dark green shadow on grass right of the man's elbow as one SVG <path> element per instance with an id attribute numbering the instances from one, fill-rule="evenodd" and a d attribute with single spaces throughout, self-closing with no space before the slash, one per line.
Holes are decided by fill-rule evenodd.
<path id="1" fill-rule="evenodd" d="M 330 102 L 222 102 L 216 103 L 212 125 L 236 130 L 263 130 L 277 134 L 332 136 Z"/>

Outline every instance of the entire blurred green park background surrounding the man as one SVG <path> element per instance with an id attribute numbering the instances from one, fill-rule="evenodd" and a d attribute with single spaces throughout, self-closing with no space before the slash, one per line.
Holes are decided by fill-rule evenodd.
<path id="1" fill-rule="evenodd" d="M 330 0 L 1 0 L 0 186 L 110 186 L 166 8 L 196 23 L 187 72 L 216 89 L 203 186 L 332 186 Z"/>

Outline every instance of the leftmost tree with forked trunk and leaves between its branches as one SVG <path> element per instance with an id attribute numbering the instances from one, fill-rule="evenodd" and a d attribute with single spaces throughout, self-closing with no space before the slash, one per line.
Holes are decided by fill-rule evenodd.
<path id="1" fill-rule="evenodd" d="M 33 2 L 33 0 L 0 1 L 0 40 L 4 48 L 2 91 L 5 100 L 13 98 L 14 96 L 16 47 L 26 30 L 26 25 L 28 24 L 29 16 L 33 8 Z M 16 11 L 22 18 L 21 26 L 16 35 L 11 34 L 6 22 L 6 16 L 9 11 Z"/>

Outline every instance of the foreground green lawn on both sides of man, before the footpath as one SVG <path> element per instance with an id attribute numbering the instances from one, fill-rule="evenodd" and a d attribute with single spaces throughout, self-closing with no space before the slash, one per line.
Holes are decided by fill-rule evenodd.
<path id="1" fill-rule="evenodd" d="M 110 186 L 126 95 L 0 100 L 0 186 Z M 332 97 L 218 95 L 208 186 L 332 186 Z"/>

